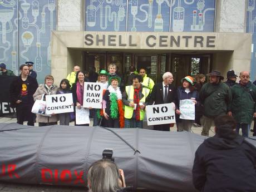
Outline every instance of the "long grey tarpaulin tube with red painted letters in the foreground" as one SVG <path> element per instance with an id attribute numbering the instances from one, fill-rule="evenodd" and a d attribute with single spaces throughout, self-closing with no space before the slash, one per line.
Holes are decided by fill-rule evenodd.
<path id="1" fill-rule="evenodd" d="M 104 149 L 113 149 L 127 185 L 195 191 L 191 169 L 205 138 L 190 132 L 0 124 L 0 180 L 86 186 L 88 167 L 102 159 Z"/>

